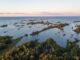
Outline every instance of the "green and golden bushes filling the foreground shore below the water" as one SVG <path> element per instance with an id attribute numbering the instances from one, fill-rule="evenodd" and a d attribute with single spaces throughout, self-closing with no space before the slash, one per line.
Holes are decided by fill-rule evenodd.
<path id="1" fill-rule="evenodd" d="M 18 38 L 18 42 L 21 38 Z M 63 48 L 49 38 L 44 42 L 29 41 L 20 46 L 12 46 L 1 55 L 0 60 L 79 60 L 80 48 L 78 40 L 67 40 Z M 10 45 L 11 46 L 11 45 Z"/>

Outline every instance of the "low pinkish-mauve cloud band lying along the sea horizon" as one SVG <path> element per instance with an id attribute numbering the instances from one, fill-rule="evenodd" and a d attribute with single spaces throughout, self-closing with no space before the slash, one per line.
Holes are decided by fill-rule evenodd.
<path id="1" fill-rule="evenodd" d="M 0 13 L 0 16 L 80 16 L 80 13 L 53 13 L 53 12 L 33 12 L 33 13 Z"/>

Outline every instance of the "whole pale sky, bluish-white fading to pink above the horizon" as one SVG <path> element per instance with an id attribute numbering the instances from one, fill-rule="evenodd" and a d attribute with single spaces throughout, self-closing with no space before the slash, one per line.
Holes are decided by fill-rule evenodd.
<path id="1" fill-rule="evenodd" d="M 80 16 L 80 0 L 0 0 L 0 16 Z"/>

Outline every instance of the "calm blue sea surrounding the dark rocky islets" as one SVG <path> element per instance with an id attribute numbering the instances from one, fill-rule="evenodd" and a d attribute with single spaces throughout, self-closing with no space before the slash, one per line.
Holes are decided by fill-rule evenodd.
<path id="1" fill-rule="evenodd" d="M 47 27 L 44 24 L 27 25 L 30 20 L 35 21 L 49 21 L 51 23 L 69 23 L 68 26 L 64 27 L 64 30 L 57 28 L 43 31 L 37 35 L 31 36 L 30 34 L 35 31 L 40 31 Z M 62 47 L 66 46 L 67 39 L 74 41 L 75 38 L 80 40 L 80 34 L 77 34 L 73 30 L 76 25 L 80 25 L 80 17 L 0 17 L 0 26 L 8 25 L 7 27 L 0 27 L 0 36 L 10 35 L 14 38 L 28 34 L 28 37 L 23 37 L 17 45 L 24 43 L 25 41 L 38 39 L 40 42 L 45 41 L 47 38 L 53 38 L 57 44 Z M 72 29 L 73 28 L 73 29 Z M 65 34 L 65 36 L 64 36 Z M 80 42 L 78 43 L 80 46 Z"/>

